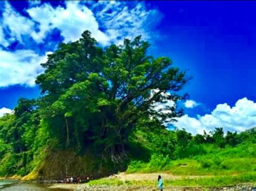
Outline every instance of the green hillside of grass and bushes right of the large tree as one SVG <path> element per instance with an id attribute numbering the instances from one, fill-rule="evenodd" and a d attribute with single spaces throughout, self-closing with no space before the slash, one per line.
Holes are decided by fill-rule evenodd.
<path id="1" fill-rule="evenodd" d="M 201 139 L 201 135 L 191 136 L 184 130 L 166 132 L 166 135 L 138 133 L 144 145 L 149 149 L 149 161 L 132 160 L 127 168 L 127 173 L 152 173 L 169 172 L 174 175 L 232 175 L 239 173 L 255 172 L 256 170 L 256 129 L 240 134 L 227 133 L 224 137 L 221 128 L 216 128 L 210 135 Z M 154 134 L 154 135 L 153 135 Z M 220 134 L 220 136 L 217 134 Z M 218 137 L 218 138 L 217 138 Z M 208 142 L 207 142 L 208 141 Z M 162 146 L 157 145 L 161 142 Z M 183 142 L 183 143 L 181 143 Z M 221 143 L 221 144 L 220 144 Z M 157 149 L 159 149 L 157 151 Z M 167 154 L 167 149 L 173 152 Z"/>

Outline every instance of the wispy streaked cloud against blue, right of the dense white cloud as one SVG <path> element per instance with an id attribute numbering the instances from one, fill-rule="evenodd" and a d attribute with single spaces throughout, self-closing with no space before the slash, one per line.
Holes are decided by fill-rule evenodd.
<path id="1" fill-rule="evenodd" d="M 100 5 L 103 9 L 97 12 L 96 18 L 107 29 L 106 34 L 112 43 L 121 44 L 124 37 L 132 39 L 138 35 L 150 39 L 153 35 L 151 29 L 162 18 L 157 9 L 147 10 L 144 3 L 129 8 L 124 2 L 99 2 L 95 8 Z"/>

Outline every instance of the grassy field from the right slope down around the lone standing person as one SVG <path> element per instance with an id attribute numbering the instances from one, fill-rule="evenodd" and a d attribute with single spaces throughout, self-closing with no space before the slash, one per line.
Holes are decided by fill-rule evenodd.
<path id="1" fill-rule="evenodd" d="M 165 187 L 220 187 L 241 183 L 256 185 L 256 144 L 216 148 L 205 145 L 205 154 L 171 160 L 168 156 L 153 154 L 149 162 L 131 161 L 125 174 L 170 174 L 164 179 Z M 173 177 L 173 178 L 172 178 Z M 103 178 L 88 183 L 107 186 L 156 186 L 156 181 L 145 179 Z"/>

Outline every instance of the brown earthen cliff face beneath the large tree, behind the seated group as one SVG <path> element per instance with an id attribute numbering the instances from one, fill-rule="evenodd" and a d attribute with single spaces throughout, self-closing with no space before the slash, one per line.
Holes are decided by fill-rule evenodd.
<path id="1" fill-rule="evenodd" d="M 55 151 L 47 154 L 32 172 L 22 180 L 63 180 L 66 175 L 100 178 L 115 173 L 111 163 L 87 153 L 83 156 L 74 151 Z"/>

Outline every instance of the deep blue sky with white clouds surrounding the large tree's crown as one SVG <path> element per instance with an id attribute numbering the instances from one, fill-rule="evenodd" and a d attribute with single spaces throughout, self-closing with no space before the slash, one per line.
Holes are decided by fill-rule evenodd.
<path id="1" fill-rule="evenodd" d="M 256 126 L 256 2 L 0 2 L 0 115 L 36 98 L 40 63 L 90 30 L 100 45 L 142 35 L 193 79 L 183 92 L 192 133 Z"/>

